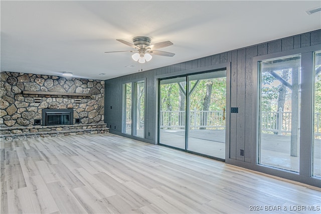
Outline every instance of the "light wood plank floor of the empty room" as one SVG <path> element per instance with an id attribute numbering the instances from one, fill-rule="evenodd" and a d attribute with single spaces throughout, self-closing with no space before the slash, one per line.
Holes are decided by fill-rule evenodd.
<path id="1" fill-rule="evenodd" d="M 320 213 L 317 189 L 117 135 L 0 148 L 1 213 Z"/>

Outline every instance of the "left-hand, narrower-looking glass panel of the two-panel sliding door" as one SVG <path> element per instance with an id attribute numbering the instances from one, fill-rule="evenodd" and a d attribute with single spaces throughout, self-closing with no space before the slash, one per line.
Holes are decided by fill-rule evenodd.
<path id="1" fill-rule="evenodd" d="M 186 77 L 161 80 L 159 143 L 185 149 Z"/>

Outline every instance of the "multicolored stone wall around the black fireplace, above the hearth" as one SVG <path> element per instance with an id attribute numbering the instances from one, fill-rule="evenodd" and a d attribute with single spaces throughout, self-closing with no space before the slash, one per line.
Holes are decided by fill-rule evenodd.
<path id="1" fill-rule="evenodd" d="M 23 91 L 86 93 L 91 96 L 32 95 Z M 1 72 L 0 124 L 33 126 L 42 109 L 74 109 L 81 124 L 103 123 L 104 81 L 58 76 Z M 37 99 L 37 100 L 36 100 Z"/>

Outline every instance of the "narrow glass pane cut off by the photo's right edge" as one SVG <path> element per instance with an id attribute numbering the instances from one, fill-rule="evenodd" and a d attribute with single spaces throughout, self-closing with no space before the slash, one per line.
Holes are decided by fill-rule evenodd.
<path id="1" fill-rule="evenodd" d="M 321 52 L 314 54 L 312 176 L 321 177 Z"/>

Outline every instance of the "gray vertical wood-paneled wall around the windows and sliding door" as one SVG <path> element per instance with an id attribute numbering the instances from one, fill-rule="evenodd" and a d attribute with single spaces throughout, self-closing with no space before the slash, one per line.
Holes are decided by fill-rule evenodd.
<path id="1" fill-rule="evenodd" d="M 282 53 L 319 45 L 321 48 L 321 30 L 291 36 L 271 42 L 253 45 L 250 47 L 216 54 L 201 59 L 187 61 L 163 68 L 134 73 L 105 81 L 105 123 L 110 132 L 122 136 L 122 84 L 145 79 L 146 81 L 146 112 L 145 112 L 145 139 L 128 136 L 134 139 L 157 144 L 157 84 L 159 78 L 192 74 L 214 69 L 227 69 L 227 109 L 238 107 L 238 113 L 227 112 L 227 143 L 226 162 L 234 165 L 263 171 L 277 176 L 298 181 L 299 178 L 289 177 L 273 170 L 259 169 L 256 165 L 256 111 L 257 103 L 257 71 L 253 69 L 253 58 L 273 53 Z M 112 108 L 111 108 L 112 107 Z M 149 133 L 149 135 L 148 135 Z M 244 156 L 240 155 L 244 150 Z M 304 181 L 303 181 L 304 182 Z"/>

